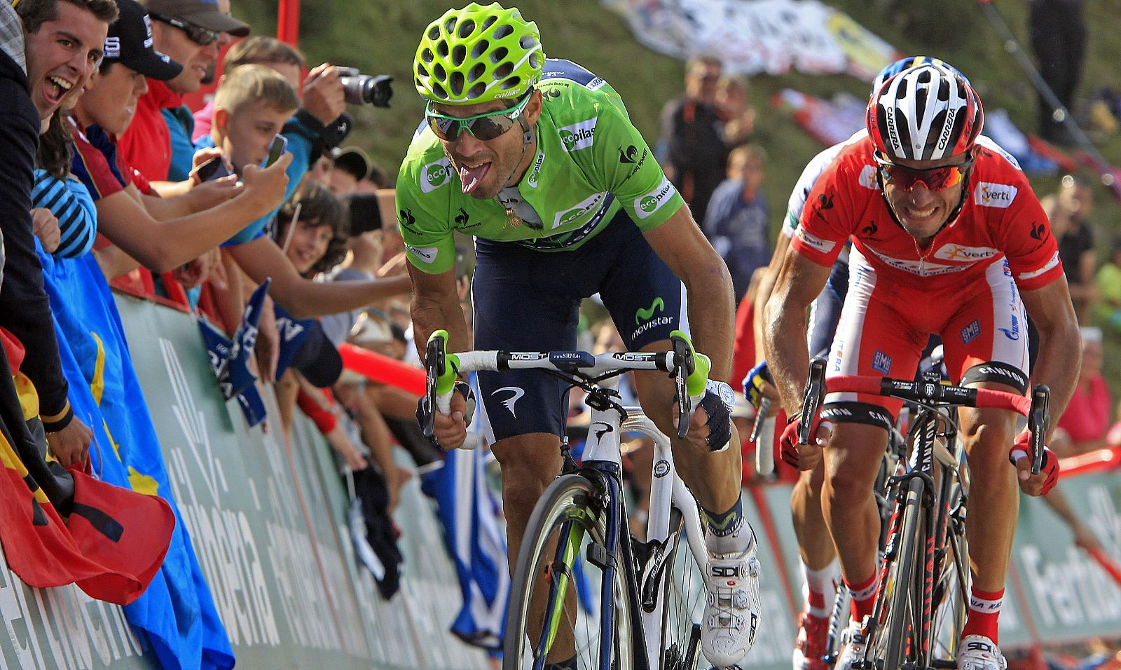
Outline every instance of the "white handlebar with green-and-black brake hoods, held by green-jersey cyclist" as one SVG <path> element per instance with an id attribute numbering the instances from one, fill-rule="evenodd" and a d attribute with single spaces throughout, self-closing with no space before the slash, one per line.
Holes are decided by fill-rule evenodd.
<path id="1" fill-rule="evenodd" d="M 669 334 L 673 350 L 667 352 L 610 352 L 591 354 L 583 351 L 506 352 L 472 351 L 447 353 L 447 331 L 436 331 L 428 337 L 425 353 L 426 393 L 428 407 L 442 415 L 451 413 L 452 391 L 460 374 L 478 370 L 552 370 L 591 379 L 603 374 L 623 373 L 628 370 L 660 370 L 675 380 L 677 391 L 677 437 L 684 438 L 689 429 L 693 406 L 701 401 L 708 381 L 712 363 L 708 356 L 696 353 L 685 333 Z M 425 437 L 432 438 L 435 412 L 421 425 Z"/>

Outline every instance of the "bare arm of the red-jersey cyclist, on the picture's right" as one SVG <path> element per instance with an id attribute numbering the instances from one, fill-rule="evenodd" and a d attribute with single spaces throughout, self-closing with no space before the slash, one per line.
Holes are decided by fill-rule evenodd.
<path id="1" fill-rule="evenodd" d="M 1051 425 L 1047 430 L 1050 439 L 1078 380 L 1082 364 L 1082 347 L 1076 344 L 1078 320 L 1063 274 L 1043 288 L 1021 291 L 1020 298 L 1039 332 L 1039 355 L 1031 371 L 1031 383 L 1050 387 Z"/>

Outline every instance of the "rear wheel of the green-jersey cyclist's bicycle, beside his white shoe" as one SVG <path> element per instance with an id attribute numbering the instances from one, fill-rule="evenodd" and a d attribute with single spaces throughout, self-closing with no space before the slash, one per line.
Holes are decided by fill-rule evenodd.
<path id="1" fill-rule="evenodd" d="M 669 533 L 673 538 L 667 573 L 663 576 L 661 662 L 651 663 L 661 670 L 696 670 L 701 654 L 701 629 L 704 614 L 704 571 L 685 537 L 685 523 L 677 508 L 669 510 Z"/>

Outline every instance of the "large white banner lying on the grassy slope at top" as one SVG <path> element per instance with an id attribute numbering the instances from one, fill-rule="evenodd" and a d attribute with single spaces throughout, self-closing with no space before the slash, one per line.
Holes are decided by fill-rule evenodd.
<path id="1" fill-rule="evenodd" d="M 872 81 L 895 47 L 817 0 L 601 0 L 640 43 L 677 58 L 713 54 L 731 74 L 851 74 Z"/>

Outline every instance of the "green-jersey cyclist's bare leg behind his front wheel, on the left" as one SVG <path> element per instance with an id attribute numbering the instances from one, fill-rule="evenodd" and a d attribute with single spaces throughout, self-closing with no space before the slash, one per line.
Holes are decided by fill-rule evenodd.
<path id="1" fill-rule="evenodd" d="M 560 473 L 559 439 L 547 432 L 531 432 L 501 439 L 491 445 L 491 450 L 502 466 L 502 509 L 506 512 L 506 534 L 509 545 L 510 570 L 513 571 L 521 538 L 529 523 L 534 506 L 541 497 L 545 488 Z M 552 548 L 549 549 L 552 550 Z M 545 613 L 547 588 L 534 589 L 530 601 L 530 626 L 539 624 Z M 567 612 L 576 612 L 576 589 L 568 589 L 565 603 Z M 575 614 L 574 614 L 575 616 Z M 529 634 L 536 638 L 539 630 L 531 629 Z M 565 661 L 575 653 L 576 643 L 571 626 L 557 626 L 556 641 L 549 652 L 548 660 Z"/>

